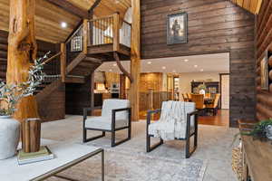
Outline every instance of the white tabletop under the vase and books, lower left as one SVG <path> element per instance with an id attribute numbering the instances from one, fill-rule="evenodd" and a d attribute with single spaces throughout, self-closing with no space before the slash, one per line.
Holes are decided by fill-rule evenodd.
<path id="1" fill-rule="evenodd" d="M 60 167 L 71 164 L 75 160 L 101 151 L 102 148 L 84 146 L 80 144 L 56 142 L 42 139 L 42 145 L 47 146 L 55 158 L 33 164 L 19 166 L 17 157 L 0 160 L 0 178 L 5 181 L 28 181 L 44 176 Z"/>

